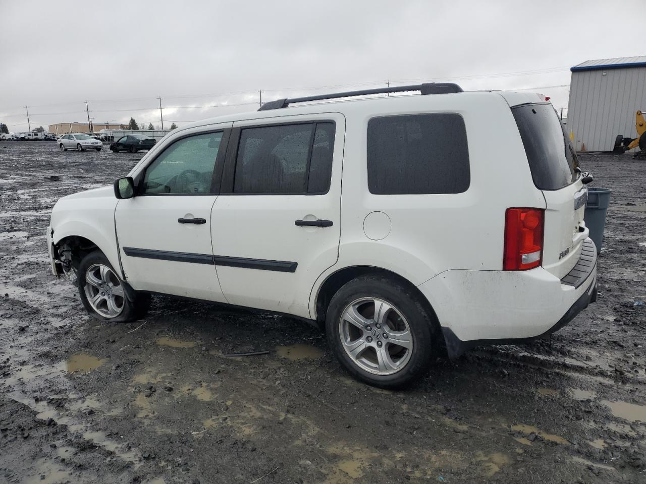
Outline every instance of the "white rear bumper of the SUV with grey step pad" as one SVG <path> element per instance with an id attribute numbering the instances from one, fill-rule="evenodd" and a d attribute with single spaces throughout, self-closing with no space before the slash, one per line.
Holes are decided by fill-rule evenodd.
<path id="1" fill-rule="evenodd" d="M 585 248 L 563 279 L 542 267 L 449 270 L 420 285 L 442 327 L 449 356 L 479 345 L 541 338 L 569 323 L 596 299 L 596 250 L 590 239 Z"/>

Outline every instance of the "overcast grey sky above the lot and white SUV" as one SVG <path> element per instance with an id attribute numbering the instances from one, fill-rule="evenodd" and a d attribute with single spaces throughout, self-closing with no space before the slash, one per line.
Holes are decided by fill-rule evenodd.
<path id="1" fill-rule="evenodd" d="M 643 1 L 0 0 L 0 121 L 178 126 L 263 101 L 455 80 L 536 88 L 567 108 L 570 66 L 646 54 Z M 256 103 L 256 105 L 245 103 Z M 228 104 L 227 107 L 195 107 Z M 231 106 L 239 105 L 239 106 Z"/>

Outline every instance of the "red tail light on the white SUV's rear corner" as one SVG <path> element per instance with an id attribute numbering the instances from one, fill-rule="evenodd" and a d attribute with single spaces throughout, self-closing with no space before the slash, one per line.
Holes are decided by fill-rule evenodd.
<path id="1" fill-rule="evenodd" d="M 545 210 L 541 208 L 507 208 L 503 270 L 527 270 L 541 265 L 544 221 Z"/>

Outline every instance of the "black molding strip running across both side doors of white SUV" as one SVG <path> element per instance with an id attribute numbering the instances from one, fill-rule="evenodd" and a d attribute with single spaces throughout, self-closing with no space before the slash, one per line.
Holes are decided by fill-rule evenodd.
<path id="1" fill-rule="evenodd" d="M 160 261 L 188 262 L 194 264 L 225 265 L 257 270 L 275 270 L 276 272 L 296 272 L 297 262 L 251 259 L 248 257 L 212 256 L 211 254 L 193 254 L 191 252 L 172 252 L 151 248 L 123 247 L 129 257 L 157 259 Z"/>

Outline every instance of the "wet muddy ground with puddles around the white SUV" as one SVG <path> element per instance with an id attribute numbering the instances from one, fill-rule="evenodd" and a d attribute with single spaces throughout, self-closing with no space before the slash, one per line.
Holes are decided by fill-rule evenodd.
<path id="1" fill-rule="evenodd" d="M 293 319 L 171 297 L 90 319 L 48 214 L 140 157 L 0 142 L 0 482 L 646 482 L 646 161 L 581 157 L 613 190 L 595 305 L 389 392 Z M 269 354 L 223 356 L 248 350 Z"/>

